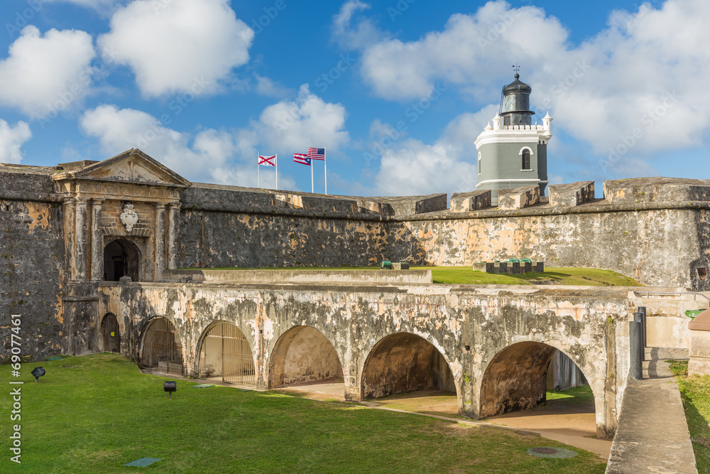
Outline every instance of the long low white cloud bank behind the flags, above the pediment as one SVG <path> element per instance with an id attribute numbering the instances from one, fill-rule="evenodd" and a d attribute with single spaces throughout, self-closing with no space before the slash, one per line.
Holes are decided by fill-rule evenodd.
<path id="1" fill-rule="evenodd" d="M 345 117 L 342 105 L 324 102 L 303 85 L 297 99 L 266 107 L 258 120 L 235 131 L 180 132 L 151 114 L 110 104 L 85 112 L 80 125 L 108 156 L 135 147 L 191 181 L 256 186 L 257 150 L 278 153 L 282 164 L 290 161 L 290 153 L 305 153 L 308 146 L 325 146 L 337 156 L 349 140 Z M 274 173 L 261 175 L 262 187 L 275 185 Z M 279 168 L 279 186 L 295 189 L 288 167 Z"/>

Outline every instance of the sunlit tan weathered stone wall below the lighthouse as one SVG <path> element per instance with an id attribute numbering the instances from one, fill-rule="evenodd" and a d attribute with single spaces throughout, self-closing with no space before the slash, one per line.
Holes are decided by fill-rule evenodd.
<path id="1" fill-rule="evenodd" d="M 461 266 L 527 257 L 545 266 L 610 269 L 650 286 L 710 289 L 697 273 L 698 266 L 710 266 L 708 211 L 582 208 L 591 212 L 533 208 L 526 215 L 413 217 L 403 222 L 406 231 L 393 235 L 393 259 Z"/>

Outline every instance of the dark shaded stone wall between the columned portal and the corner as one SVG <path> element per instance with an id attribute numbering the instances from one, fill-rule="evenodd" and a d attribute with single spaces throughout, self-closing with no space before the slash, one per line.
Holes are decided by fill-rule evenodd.
<path id="1" fill-rule="evenodd" d="M 199 208 L 182 210 L 178 249 L 183 268 L 371 266 L 392 255 L 380 218 Z"/>

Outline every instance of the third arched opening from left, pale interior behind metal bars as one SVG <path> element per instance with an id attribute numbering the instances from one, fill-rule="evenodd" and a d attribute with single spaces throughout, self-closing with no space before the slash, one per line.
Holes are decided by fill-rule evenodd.
<path id="1" fill-rule="evenodd" d="M 256 366 L 251 345 L 236 325 L 217 321 L 205 330 L 200 340 L 197 377 L 256 386 Z"/>

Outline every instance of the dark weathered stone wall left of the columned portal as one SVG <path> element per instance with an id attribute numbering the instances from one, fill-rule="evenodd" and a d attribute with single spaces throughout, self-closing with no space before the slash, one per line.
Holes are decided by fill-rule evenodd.
<path id="1" fill-rule="evenodd" d="M 0 360 L 11 355 L 12 314 L 21 315 L 21 355 L 63 352 L 65 332 L 62 205 L 40 174 L 0 172 Z"/>

